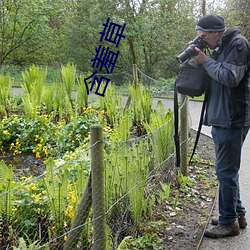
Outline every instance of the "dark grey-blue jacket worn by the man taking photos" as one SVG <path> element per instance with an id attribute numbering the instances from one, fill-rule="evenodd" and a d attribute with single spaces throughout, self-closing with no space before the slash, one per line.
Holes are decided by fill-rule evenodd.
<path id="1" fill-rule="evenodd" d="M 203 66 L 211 81 L 204 125 L 250 126 L 250 45 L 237 27 L 227 30 Z"/>

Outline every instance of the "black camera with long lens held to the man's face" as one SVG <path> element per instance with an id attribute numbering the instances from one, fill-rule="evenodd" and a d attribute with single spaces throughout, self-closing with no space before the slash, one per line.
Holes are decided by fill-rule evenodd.
<path id="1" fill-rule="evenodd" d="M 198 55 L 196 50 L 194 49 L 195 47 L 199 48 L 200 50 L 203 50 L 207 48 L 207 43 L 199 36 L 197 36 L 191 43 L 190 45 L 180 54 L 178 55 L 177 61 L 179 63 L 183 63 L 186 61 L 188 58 L 193 57 Z"/>

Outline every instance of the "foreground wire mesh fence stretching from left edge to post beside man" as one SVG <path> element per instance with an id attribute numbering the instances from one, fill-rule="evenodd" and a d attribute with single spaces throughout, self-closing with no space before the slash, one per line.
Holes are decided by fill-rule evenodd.
<path id="1" fill-rule="evenodd" d="M 97 139 L 103 149 L 94 157 L 92 143 L 73 159 L 48 159 L 38 176 L 17 179 L 1 161 L 1 249 L 118 249 L 136 237 L 140 223 L 154 214 L 161 183 L 171 182 L 174 172 L 173 114 L 165 119 L 140 137 Z M 93 173 L 93 165 L 102 160 L 103 183 L 93 182 L 102 171 Z M 96 187 L 101 189 L 93 192 Z M 105 207 L 96 216 L 94 210 L 103 206 L 100 190 Z"/>

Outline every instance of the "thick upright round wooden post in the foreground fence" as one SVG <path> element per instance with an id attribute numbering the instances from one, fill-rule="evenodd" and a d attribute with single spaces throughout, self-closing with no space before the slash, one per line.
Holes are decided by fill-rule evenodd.
<path id="1" fill-rule="evenodd" d="M 91 141 L 91 176 L 94 250 L 106 249 L 106 216 L 104 192 L 104 151 L 103 130 L 99 124 L 90 127 Z"/>

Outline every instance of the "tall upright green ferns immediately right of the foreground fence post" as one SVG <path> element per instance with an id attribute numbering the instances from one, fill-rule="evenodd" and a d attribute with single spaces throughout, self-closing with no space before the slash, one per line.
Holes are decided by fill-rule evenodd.
<path id="1" fill-rule="evenodd" d="M 151 157 L 147 138 L 132 140 L 130 145 L 126 142 L 111 142 L 110 151 L 106 154 L 105 168 L 107 209 L 125 196 L 123 204 L 113 209 L 112 213 L 116 215 L 111 214 L 111 218 L 118 214 L 122 216 L 124 213 L 131 213 L 134 225 L 140 224 L 143 211 L 147 209 L 144 195 Z"/>

